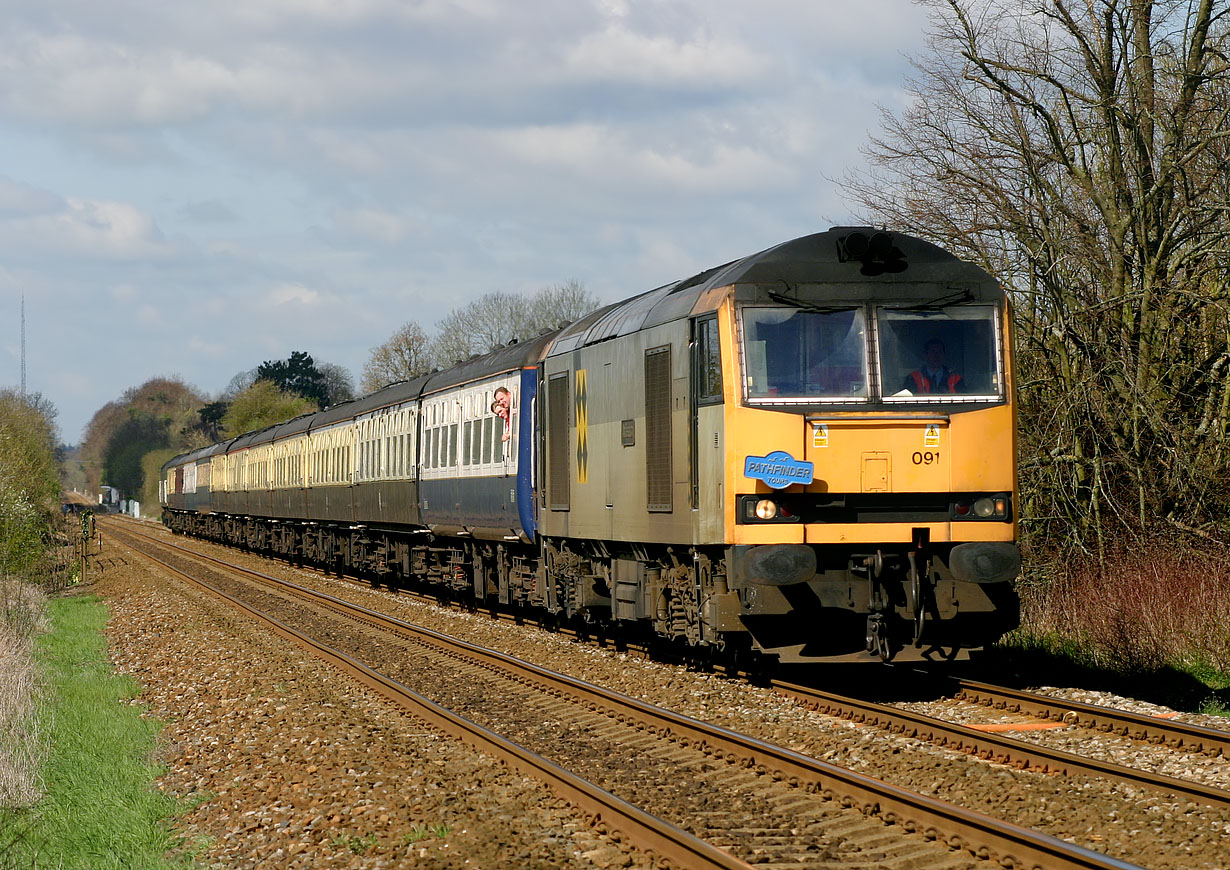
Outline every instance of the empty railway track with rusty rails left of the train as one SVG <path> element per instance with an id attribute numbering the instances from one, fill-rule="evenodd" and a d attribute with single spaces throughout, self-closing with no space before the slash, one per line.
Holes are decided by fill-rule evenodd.
<path id="1" fill-rule="evenodd" d="M 165 541 L 155 543 L 161 548 L 173 548 Z M 183 551 L 182 548 L 176 549 Z M 199 554 L 193 554 L 192 559 L 209 560 L 218 567 L 226 565 Z M 181 569 L 169 565 L 167 560 L 160 561 L 167 570 L 181 572 Z M 921 850 L 924 854 L 927 849 L 934 850 L 934 854 L 925 854 L 925 860 L 918 859 L 926 866 L 943 866 L 945 858 L 956 861 L 951 864 L 952 866 L 968 866 L 970 856 L 993 860 L 1001 866 L 1133 866 L 745 735 L 691 720 L 562 674 L 526 666 L 508 656 L 472 647 L 400 620 L 391 620 L 373 610 L 357 609 L 331 596 L 304 589 L 268 575 L 239 566 L 226 566 L 224 570 L 241 572 L 248 581 L 258 580 L 266 589 L 276 591 L 262 592 L 266 601 L 260 607 L 246 603 L 245 609 L 276 626 L 279 633 L 295 636 L 296 642 L 310 645 L 317 655 L 337 656 L 338 667 L 362 674 L 364 682 L 374 680 L 373 688 L 385 696 L 403 698 L 411 690 L 396 677 L 380 674 L 371 666 L 360 664 L 354 655 L 335 649 L 333 640 L 309 639 L 304 633 L 292 629 L 290 620 L 279 618 L 278 612 L 284 610 L 285 605 L 278 602 L 288 602 L 289 597 L 298 602 L 308 601 L 311 602 L 311 608 L 328 608 L 335 621 L 344 614 L 347 620 L 362 625 L 358 634 L 347 634 L 354 629 L 330 630 L 344 635 L 342 637 L 344 644 L 341 646 L 348 650 L 364 647 L 364 639 L 360 635 L 367 635 L 368 646 L 387 649 L 390 635 L 396 634 L 399 649 L 395 658 L 402 662 L 402 667 L 406 667 L 406 661 L 415 661 L 417 664 L 412 666 L 411 671 L 426 669 L 427 662 L 434 662 L 434 667 L 438 668 L 439 662 L 446 658 L 448 667 L 444 671 L 453 674 L 451 684 L 459 685 L 456 674 L 460 673 L 464 674 L 460 685 L 470 688 L 469 692 L 460 694 L 453 689 L 448 706 L 462 708 L 466 716 L 458 717 L 446 710 L 443 712 L 448 715 L 443 715 L 435 710 L 437 708 L 443 710 L 443 705 L 428 699 L 424 700 L 432 706 L 423 709 L 432 710 L 430 715 L 438 717 L 430 719 L 437 727 L 456 732 L 467 742 L 491 740 L 486 735 L 478 736 L 483 730 L 475 720 L 486 716 L 498 720 L 501 730 L 508 730 L 508 720 L 517 709 L 533 709 L 535 712 L 530 720 L 556 722 L 552 732 L 556 737 L 562 732 L 584 733 L 587 748 L 582 754 L 598 759 L 599 763 L 583 765 L 579 764 L 582 759 L 572 756 L 567 759 L 567 767 L 587 767 L 585 778 L 593 776 L 604 785 L 611 784 L 610 790 L 646 795 L 645 800 L 624 801 L 633 810 L 636 802 L 654 804 L 654 792 L 661 790 L 663 784 L 686 783 L 688 791 L 695 792 L 689 797 L 695 800 L 685 802 L 700 808 L 694 808 L 690 816 L 684 813 L 679 824 L 668 824 L 664 828 L 654 828 L 645 817 L 638 822 L 624 821 L 617 813 L 626 812 L 626 807 L 619 808 L 609 804 L 595 807 L 592 804 L 598 800 L 595 794 L 608 794 L 608 789 L 603 785 L 567 786 L 573 789 L 568 794 L 568 800 L 577 806 L 589 807 L 585 812 L 590 817 L 627 833 L 637 842 L 646 843 L 645 848 L 656 854 L 674 855 L 669 860 L 679 866 L 701 866 L 699 855 L 704 845 L 704 842 L 694 834 L 688 834 L 691 839 L 685 838 L 688 843 L 685 847 L 662 842 L 663 837 L 674 837 L 673 832 L 681 827 L 704 832 L 708 848 L 724 856 L 716 856 L 712 860 L 738 861 L 742 855 L 754 859 L 758 866 L 772 864 L 820 866 L 831 863 L 836 855 L 831 853 L 830 845 L 824 844 L 833 839 L 833 834 L 822 832 L 834 829 L 843 831 L 840 837 L 845 848 L 850 848 L 851 843 L 857 844 L 860 838 L 876 840 L 883 839 L 886 832 L 891 837 L 902 832 L 900 843 L 893 849 L 907 853 Z M 221 586 L 216 581 L 210 585 Z M 216 588 L 215 594 L 237 597 Z M 244 598 L 247 599 L 250 596 L 245 594 Z M 290 609 L 294 610 L 294 607 Z M 371 631 L 379 633 L 384 640 L 373 639 Z M 417 693 L 411 692 L 411 694 Z M 488 699 L 501 698 L 506 699 L 506 703 L 492 710 L 490 706 L 483 708 L 477 704 L 476 695 Z M 545 706 L 541 700 L 544 696 L 552 699 Z M 507 699 L 515 700 L 508 703 Z M 418 700 L 413 703 L 422 705 Z M 416 712 L 416 715 L 428 717 L 427 714 Z M 459 725 L 458 719 L 466 724 Z M 461 728 L 461 732 L 458 732 L 458 728 Z M 535 728 L 530 724 L 513 727 L 514 731 L 518 728 L 522 742 L 533 742 Z M 531 775 L 545 775 L 533 773 L 541 762 L 526 760 L 526 758 L 542 759 L 545 752 L 530 751 L 528 756 L 523 756 L 524 748 L 510 744 L 503 738 L 497 737 L 497 740 L 502 741 L 503 747 L 498 754 L 507 756 L 510 764 Z M 542 740 L 541 735 L 539 740 Z M 549 735 L 546 743 L 550 744 L 551 740 Z M 513 758 L 520 760 L 512 760 Z M 616 759 L 617 763 L 604 764 L 606 759 Z M 556 784 L 558 774 L 547 776 L 552 788 L 565 788 Z M 740 812 L 739 801 L 731 802 L 732 795 L 742 797 L 743 804 L 754 805 L 755 811 L 750 815 L 747 810 Z M 653 815 L 649 813 L 648 818 L 653 818 Z M 886 827 L 884 822 L 892 823 L 893 827 Z M 651 831 L 657 833 L 649 833 Z M 914 836 L 911 837 L 909 832 L 914 832 Z M 642 837 L 646 839 L 642 840 Z M 812 843 L 814 849 L 819 849 L 819 854 L 808 855 L 806 850 L 801 852 L 800 843 L 804 842 Z M 722 848 L 717 849 L 717 845 Z M 688 850 L 686 855 L 680 856 L 679 853 L 672 852 L 680 848 Z M 729 853 L 734 853 L 736 858 L 732 859 Z M 733 865 L 713 863 L 704 866 L 742 866 L 742 863 Z"/>

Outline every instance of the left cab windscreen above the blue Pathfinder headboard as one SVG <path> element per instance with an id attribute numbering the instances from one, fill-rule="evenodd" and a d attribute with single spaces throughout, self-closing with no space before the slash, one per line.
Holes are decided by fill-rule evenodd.
<path id="1" fill-rule="evenodd" d="M 748 400 L 867 401 L 866 335 L 861 308 L 744 308 L 742 349 Z"/>

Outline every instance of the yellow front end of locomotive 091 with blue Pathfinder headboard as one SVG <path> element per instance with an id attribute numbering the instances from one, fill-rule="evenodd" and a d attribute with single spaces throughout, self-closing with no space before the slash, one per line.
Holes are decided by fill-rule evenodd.
<path id="1" fill-rule="evenodd" d="M 823 235 L 715 319 L 729 591 L 781 661 L 959 657 L 1018 618 L 1007 303 L 920 240 Z"/>

